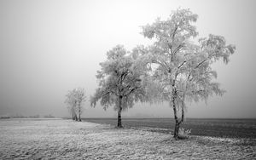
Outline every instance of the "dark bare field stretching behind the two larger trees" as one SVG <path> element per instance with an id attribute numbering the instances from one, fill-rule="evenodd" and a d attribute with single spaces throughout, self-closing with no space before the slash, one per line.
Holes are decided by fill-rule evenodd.
<path id="1" fill-rule="evenodd" d="M 117 123 L 115 118 L 84 118 L 84 121 L 111 125 Z M 172 118 L 124 118 L 122 123 L 125 127 L 148 128 L 163 133 L 172 133 L 174 129 Z M 256 139 L 256 119 L 188 118 L 182 128 L 191 129 L 192 135 Z"/>

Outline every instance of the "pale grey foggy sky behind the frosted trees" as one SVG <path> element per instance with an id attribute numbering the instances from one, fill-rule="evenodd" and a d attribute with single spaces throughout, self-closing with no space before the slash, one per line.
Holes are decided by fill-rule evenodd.
<path id="1" fill-rule="evenodd" d="M 199 15 L 199 37 L 224 36 L 236 45 L 230 63 L 217 63 L 217 81 L 227 90 L 207 105 L 188 104 L 186 117 L 256 117 L 255 1 L 0 1 L 0 116 L 68 116 L 68 90 L 86 90 L 83 117 L 116 117 L 89 106 L 96 71 L 117 44 L 132 49 L 150 43 L 140 26 L 163 20 L 177 8 Z M 167 103 L 137 104 L 125 117 L 172 117 Z"/>

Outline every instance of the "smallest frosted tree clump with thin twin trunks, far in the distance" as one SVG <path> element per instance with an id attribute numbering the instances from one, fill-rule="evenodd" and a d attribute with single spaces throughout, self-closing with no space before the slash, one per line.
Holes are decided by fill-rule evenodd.
<path id="1" fill-rule="evenodd" d="M 67 103 L 68 110 L 71 113 L 73 120 L 81 121 L 81 114 L 83 111 L 83 103 L 86 99 L 85 91 L 82 88 L 68 91 L 65 103 Z M 79 117 L 78 117 L 79 115 Z"/>

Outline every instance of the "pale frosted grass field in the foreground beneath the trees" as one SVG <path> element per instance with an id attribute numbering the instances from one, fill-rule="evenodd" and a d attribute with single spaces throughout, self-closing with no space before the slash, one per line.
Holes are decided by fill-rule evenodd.
<path id="1" fill-rule="evenodd" d="M 0 159 L 256 159 L 255 139 L 191 136 L 64 119 L 0 120 Z"/>

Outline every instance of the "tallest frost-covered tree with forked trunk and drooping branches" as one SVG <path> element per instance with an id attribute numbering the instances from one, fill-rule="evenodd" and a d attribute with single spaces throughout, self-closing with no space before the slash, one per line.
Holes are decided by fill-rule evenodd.
<path id="1" fill-rule="evenodd" d="M 220 59 L 227 64 L 236 49 L 227 45 L 224 37 L 212 34 L 198 42 L 193 41 L 198 36 L 193 26 L 197 17 L 189 9 L 177 9 L 167 20 L 158 18 L 153 24 L 143 26 L 143 36 L 153 39 L 154 44 L 139 49 L 143 53 L 140 64 L 154 64 L 148 94 L 170 103 L 176 123 L 176 139 L 186 102 L 224 94 L 219 84 L 213 81 L 217 72 L 212 71 L 211 65 Z"/>

